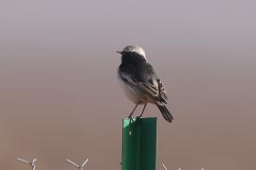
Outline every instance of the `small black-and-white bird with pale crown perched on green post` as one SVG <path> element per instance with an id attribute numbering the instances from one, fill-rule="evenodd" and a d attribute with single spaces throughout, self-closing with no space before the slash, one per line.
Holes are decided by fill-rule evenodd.
<path id="1" fill-rule="evenodd" d="M 137 118 L 140 118 L 148 103 L 155 104 L 164 119 L 173 122 L 174 117 L 167 109 L 167 93 L 161 79 L 156 75 L 154 67 L 146 58 L 144 49 L 137 45 L 125 46 L 121 55 L 118 68 L 118 79 L 126 96 L 136 104 L 129 114 L 131 118 L 138 105 L 144 105 Z"/>

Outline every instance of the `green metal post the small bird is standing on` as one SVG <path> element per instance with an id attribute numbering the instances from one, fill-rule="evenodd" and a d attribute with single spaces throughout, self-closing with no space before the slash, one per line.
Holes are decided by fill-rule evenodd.
<path id="1" fill-rule="evenodd" d="M 122 170 L 155 170 L 156 120 L 122 120 Z"/>

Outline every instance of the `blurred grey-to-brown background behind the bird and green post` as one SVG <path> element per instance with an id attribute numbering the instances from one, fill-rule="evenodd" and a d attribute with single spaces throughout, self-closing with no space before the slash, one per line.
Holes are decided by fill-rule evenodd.
<path id="1" fill-rule="evenodd" d="M 0 2 L 0 169 L 120 169 L 132 104 L 116 72 L 142 46 L 169 93 L 157 169 L 256 168 L 255 1 Z M 140 110 L 142 107 L 139 108 Z M 138 113 L 139 110 L 137 110 Z"/>

